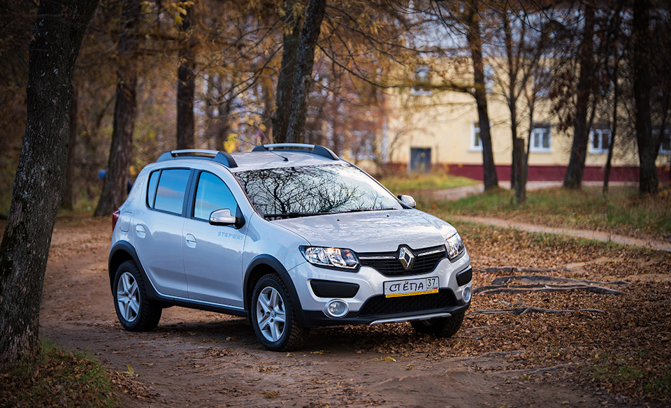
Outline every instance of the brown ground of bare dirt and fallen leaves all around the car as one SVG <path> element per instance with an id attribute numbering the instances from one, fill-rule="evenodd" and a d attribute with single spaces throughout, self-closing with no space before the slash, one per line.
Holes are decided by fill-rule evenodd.
<path id="1" fill-rule="evenodd" d="M 474 286 L 498 286 L 475 294 L 449 339 L 409 323 L 315 328 L 305 350 L 285 355 L 262 349 L 245 319 L 180 307 L 166 309 L 153 332 L 125 332 L 106 281 L 107 219 L 57 223 L 41 323 L 64 346 L 92 351 L 133 407 L 671 405 L 671 254 L 455 226 Z M 545 275 L 547 284 L 495 280 L 520 275 Z M 555 291 L 570 282 L 550 278 L 623 294 Z M 468 370 L 454 368 L 461 364 Z"/>

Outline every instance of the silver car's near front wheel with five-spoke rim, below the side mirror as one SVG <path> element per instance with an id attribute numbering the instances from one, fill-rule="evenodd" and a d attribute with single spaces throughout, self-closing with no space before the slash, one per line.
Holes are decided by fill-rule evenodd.
<path id="1" fill-rule="evenodd" d="M 300 348 L 310 331 L 298 326 L 287 286 L 277 275 L 264 275 L 252 293 L 251 321 L 261 344 L 271 351 Z"/>

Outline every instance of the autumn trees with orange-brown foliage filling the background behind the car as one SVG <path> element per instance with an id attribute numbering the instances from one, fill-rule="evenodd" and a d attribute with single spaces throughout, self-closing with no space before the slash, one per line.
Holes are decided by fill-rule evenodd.
<path id="1" fill-rule="evenodd" d="M 668 135 L 671 95 L 665 3 L 323 3 L 317 37 L 300 50 L 314 54 L 308 86 L 297 89 L 306 102 L 292 110 L 294 84 L 301 83 L 295 78 L 306 76 L 301 69 L 310 62 L 299 61 L 301 30 L 319 18 L 308 15 L 307 1 L 101 1 L 72 82 L 63 206 L 109 214 L 128 180 L 175 148 L 231 152 L 271 141 L 319 143 L 355 163 L 373 153 L 384 171 L 387 158 L 370 130 L 399 109 L 419 109 L 417 89 L 472 94 L 488 188 L 498 180 L 484 134 L 486 100 L 508 103 L 515 140 L 525 138 L 525 116 L 533 117 L 537 99 L 546 96 L 561 129 L 574 137 L 568 187 L 582 181 L 589 129 L 600 121 L 612 129 L 610 143 L 640 150 L 641 191 L 656 191 L 654 159 Z M 8 214 L 22 146 L 37 5 L 0 6 L 0 214 Z M 486 94 L 487 81 L 503 85 L 502 92 Z M 517 108 L 521 99 L 526 112 Z M 292 111 L 304 117 L 294 118 L 289 129 L 296 131 L 287 135 Z M 304 131 L 296 125 L 301 121 Z M 101 170 L 108 171 L 104 181 Z"/>

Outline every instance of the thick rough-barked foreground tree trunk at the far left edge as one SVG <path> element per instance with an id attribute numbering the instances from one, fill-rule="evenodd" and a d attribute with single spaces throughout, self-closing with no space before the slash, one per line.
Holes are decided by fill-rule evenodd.
<path id="1" fill-rule="evenodd" d="M 0 245 L 0 370 L 38 350 L 51 234 L 68 160 L 70 87 L 96 0 L 41 1 L 29 46 L 27 123 Z"/>

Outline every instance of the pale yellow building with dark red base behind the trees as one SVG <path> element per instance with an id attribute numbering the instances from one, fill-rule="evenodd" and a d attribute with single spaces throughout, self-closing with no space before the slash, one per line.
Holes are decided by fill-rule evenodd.
<path id="1" fill-rule="evenodd" d="M 510 110 L 496 89 L 488 87 L 488 111 L 494 163 L 498 179 L 510 180 L 512 131 Z M 517 132 L 528 140 L 529 118 L 526 99 L 518 101 Z M 449 173 L 482 180 L 482 143 L 475 99 L 461 92 L 434 92 L 412 89 L 392 98 L 382 150 L 389 163 L 410 171 L 447 168 Z M 570 159 L 572 129 L 557 130 L 557 118 L 551 115 L 549 99 L 541 99 L 534 108 L 534 129 L 528 156 L 528 180 L 563 180 Z M 610 130 L 595 124 L 590 133 L 584 181 L 603 180 Z M 526 142 L 528 143 L 528 142 Z M 638 155 L 635 143 L 616 140 L 610 180 L 638 181 Z M 669 180 L 671 159 L 669 138 L 658 156 L 660 178 Z"/>

